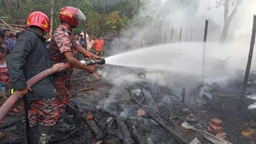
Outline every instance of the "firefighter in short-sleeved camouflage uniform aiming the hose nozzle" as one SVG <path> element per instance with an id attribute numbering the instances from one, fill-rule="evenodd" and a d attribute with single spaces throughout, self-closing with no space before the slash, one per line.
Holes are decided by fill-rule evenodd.
<path id="1" fill-rule="evenodd" d="M 55 30 L 51 39 L 50 59 L 52 59 L 53 63 L 69 63 L 72 67 L 93 73 L 93 67 L 85 66 L 74 58 L 74 52 L 77 51 L 83 55 L 89 54 L 93 59 L 101 59 L 79 46 L 75 41 L 72 29 L 76 28 L 80 21 L 86 20 L 85 15 L 78 8 L 67 6 L 60 10 L 59 20 L 61 24 Z M 67 132 L 75 128 L 75 125 L 64 123 L 63 119 L 65 118 L 62 117 L 65 107 L 71 98 L 71 95 L 68 93 L 72 89 L 71 75 L 72 69 L 66 69 L 53 74 L 54 86 L 59 96 L 58 104 L 60 111 L 60 119 L 53 128 L 55 131 Z"/>

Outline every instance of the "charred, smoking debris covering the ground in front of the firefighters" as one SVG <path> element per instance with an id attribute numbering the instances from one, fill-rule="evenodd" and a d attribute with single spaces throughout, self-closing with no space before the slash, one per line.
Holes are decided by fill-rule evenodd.
<path id="1" fill-rule="evenodd" d="M 173 88 L 150 80 L 116 85 L 99 74 L 80 71 L 73 80 L 74 98 L 66 107 L 64 122 L 75 128 L 54 132 L 53 144 L 240 144 L 253 139 L 253 132 L 245 135 L 253 123 L 236 110 L 240 97 L 235 90 L 242 78 L 228 84 L 201 84 L 182 77 Z M 255 92 L 253 80 L 251 75 L 249 95 Z M 26 129 L 22 110 L 8 117 L 0 125 L 0 143 L 22 143 Z"/>

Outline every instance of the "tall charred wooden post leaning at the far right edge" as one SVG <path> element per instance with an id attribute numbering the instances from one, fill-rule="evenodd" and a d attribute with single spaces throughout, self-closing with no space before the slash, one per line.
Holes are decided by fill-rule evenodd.
<path id="1" fill-rule="evenodd" d="M 250 45 L 250 51 L 249 51 L 249 56 L 248 56 L 248 62 L 247 62 L 247 66 L 246 66 L 246 71 L 245 71 L 245 79 L 244 79 L 244 84 L 243 84 L 243 88 L 241 91 L 241 104 L 240 104 L 240 110 L 242 110 L 243 108 L 245 108 L 245 91 L 246 91 L 246 86 L 247 86 L 247 82 L 248 82 L 248 77 L 249 77 L 249 73 L 250 73 L 250 69 L 251 69 L 251 59 L 252 59 L 252 55 L 253 55 L 253 48 L 254 48 L 254 44 L 255 44 L 255 36 L 256 36 L 256 16 L 253 16 L 253 27 L 252 27 L 252 33 L 251 33 L 251 45 Z"/>

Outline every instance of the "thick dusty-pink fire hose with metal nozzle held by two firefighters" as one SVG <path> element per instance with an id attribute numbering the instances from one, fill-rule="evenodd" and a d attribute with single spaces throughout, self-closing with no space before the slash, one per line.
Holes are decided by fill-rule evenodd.
<path id="1" fill-rule="evenodd" d="M 105 64 L 105 59 L 89 59 L 85 58 L 85 60 L 80 61 L 84 65 L 94 65 L 94 64 Z M 46 69 L 42 71 L 41 73 L 33 76 L 31 79 L 27 80 L 27 87 L 31 87 L 32 85 L 36 84 L 38 81 L 42 80 L 43 78 L 52 75 L 56 72 L 58 72 L 60 69 L 70 69 L 71 65 L 66 63 L 61 66 L 51 67 L 49 69 Z M 19 96 L 17 92 L 14 92 L 6 101 L 5 103 L 0 107 L 0 123 L 2 122 L 3 118 L 5 117 L 5 114 L 11 109 L 11 107 L 18 101 Z"/>

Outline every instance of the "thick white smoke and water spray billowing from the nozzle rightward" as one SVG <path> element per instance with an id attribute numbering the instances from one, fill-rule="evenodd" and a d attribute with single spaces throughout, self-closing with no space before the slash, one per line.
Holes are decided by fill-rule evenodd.
<path id="1" fill-rule="evenodd" d="M 189 0 L 187 0 L 190 2 Z M 159 56 L 157 54 L 163 52 L 163 47 L 169 47 L 170 45 L 160 45 L 155 47 L 154 53 L 133 53 L 126 60 L 131 64 L 139 64 L 139 62 L 146 61 L 151 67 L 146 64 L 141 64 L 137 68 L 143 67 L 144 69 L 150 69 L 150 72 L 145 72 L 146 75 L 142 77 L 136 73 L 137 69 L 124 68 L 124 67 L 110 67 L 104 70 L 104 79 L 110 81 L 117 87 L 123 87 L 128 83 L 136 83 L 142 81 L 153 81 L 159 85 L 168 87 L 178 87 L 175 82 L 181 82 L 181 77 L 175 77 L 171 75 L 175 72 L 180 72 L 180 75 L 193 75 L 192 79 L 198 79 L 201 75 L 202 69 L 202 48 L 203 48 L 203 34 L 205 19 L 209 19 L 208 27 L 208 43 L 206 49 L 206 83 L 218 82 L 226 84 L 229 80 L 238 79 L 237 70 L 245 70 L 246 62 L 248 59 L 248 52 L 251 40 L 251 29 L 253 14 L 256 13 L 256 0 L 243 0 L 242 5 L 238 7 L 238 13 L 231 23 L 229 28 L 229 35 L 227 43 L 219 45 L 220 35 L 224 25 L 224 7 L 214 8 L 214 0 L 191 0 L 198 2 L 198 5 L 189 4 L 181 6 L 180 0 L 151 0 L 147 3 L 142 11 L 143 16 L 151 16 L 152 21 L 140 21 L 140 29 L 134 29 L 134 27 L 123 32 L 123 37 L 115 39 L 111 44 L 111 52 L 109 55 L 115 55 L 131 51 L 133 49 L 143 48 L 143 41 L 145 46 L 159 45 L 164 42 L 164 34 L 166 32 L 165 43 L 170 43 L 171 39 L 171 27 L 174 27 L 175 32 L 173 41 L 176 44 L 172 46 L 178 47 L 179 30 L 182 27 L 182 42 L 190 42 L 191 36 L 193 42 L 200 42 L 197 45 L 188 43 L 190 49 L 187 48 L 192 58 L 176 61 L 176 65 L 171 67 L 168 65 L 166 59 L 171 59 L 169 56 Z M 192 2 L 193 3 L 193 2 Z M 211 7 L 211 9 L 209 9 Z M 229 14 L 233 11 L 234 6 L 230 4 Z M 136 22 L 136 19 L 134 19 Z M 144 59 L 146 56 L 152 54 L 151 59 Z M 154 55 L 155 54 L 155 55 Z M 169 53 L 165 53 L 168 55 Z M 174 55 L 174 57 L 177 55 Z M 255 53 L 252 60 L 251 69 L 256 69 Z M 124 57 L 123 57 L 124 58 Z M 115 63 L 121 63 L 124 59 L 113 59 Z M 157 61 L 159 64 L 151 64 L 151 61 Z M 164 63 L 163 63 L 164 62 Z M 165 64 L 165 65 L 163 65 Z M 152 70 L 153 67 L 164 69 L 164 71 Z M 131 65 L 125 65 L 131 66 Z M 131 70 L 132 69 L 132 70 Z M 141 69 L 138 69 L 140 71 Z M 162 69 L 163 70 L 163 69 Z M 135 71 L 135 72 L 134 72 Z M 169 76 L 166 76 L 168 74 Z M 171 75 L 171 76 L 170 76 Z M 240 78 L 240 77 L 239 77 Z M 194 80 L 196 81 L 196 80 Z M 182 83 L 186 85 L 186 81 Z M 179 85 L 183 86 L 183 85 Z M 197 85 L 190 85 L 191 88 Z M 181 87 L 179 87 L 181 89 Z M 202 92 L 204 93 L 204 92 Z"/>

